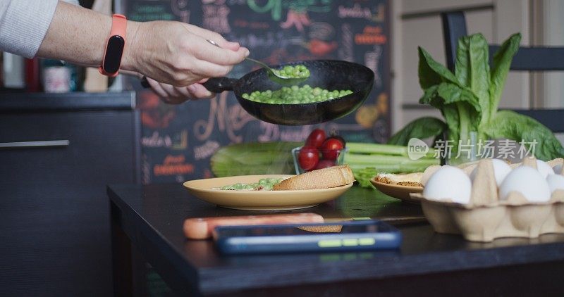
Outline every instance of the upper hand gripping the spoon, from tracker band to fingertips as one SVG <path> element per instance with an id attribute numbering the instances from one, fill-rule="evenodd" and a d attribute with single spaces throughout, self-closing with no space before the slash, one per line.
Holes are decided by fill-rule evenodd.
<path id="1" fill-rule="evenodd" d="M 187 90 L 186 86 L 202 79 L 227 75 L 233 65 L 249 54 L 249 50 L 238 43 L 228 42 L 220 34 L 194 25 L 168 21 L 130 23 L 128 36 L 131 40 L 123 56 L 123 68 Z M 194 94 L 202 93 L 200 87 L 193 87 Z M 167 94 L 180 92 L 179 89 L 168 90 L 171 92 Z"/>

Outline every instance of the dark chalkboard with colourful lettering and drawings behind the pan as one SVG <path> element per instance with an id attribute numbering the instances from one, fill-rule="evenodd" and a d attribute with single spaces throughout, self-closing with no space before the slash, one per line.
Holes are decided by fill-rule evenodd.
<path id="1" fill-rule="evenodd" d="M 366 65 L 375 74 L 365 103 L 344 118 L 314 126 L 259 121 L 240 107 L 232 92 L 179 106 L 137 89 L 142 111 L 144 183 L 212 177 L 209 158 L 221 146 L 247 141 L 303 141 L 315 127 L 347 141 L 382 142 L 389 134 L 389 14 L 386 0 L 123 0 L 130 20 L 179 20 L 219 32 L 250 49 L 250 57 L 276 65 L 336 59 Z M 242 77 L 256 65 L 236 65 Z"/>

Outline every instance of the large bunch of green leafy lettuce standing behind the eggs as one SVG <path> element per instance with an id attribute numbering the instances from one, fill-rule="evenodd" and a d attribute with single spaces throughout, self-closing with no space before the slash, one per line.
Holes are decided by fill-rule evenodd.
<path id="1" fill-rule="evenodd" d="M 498 111 L 520 40 L 521 34 L 516 33 L 503 42 L 490 68 L 489 46 L 484 36 L 472 34 L 460 38 L 454 73 L 419 47 L 419 84 L 423 90 L 419 103 L 441 110 L 445 122 L 435 118 L 414 120 L 388 143 L 405 145 L 412 137 L 440 137 L 446 130 L 446 140 L 453 141 L 453 148 L 458 148 L 458 141 L 466 144 L 470 132 L 477 132 L 478 140 L 505 138 L 525 145 L 536 141 L 534 154 L 541 160 L 563 157 L 562 144 L 540 122 L 508 110 Z"/>

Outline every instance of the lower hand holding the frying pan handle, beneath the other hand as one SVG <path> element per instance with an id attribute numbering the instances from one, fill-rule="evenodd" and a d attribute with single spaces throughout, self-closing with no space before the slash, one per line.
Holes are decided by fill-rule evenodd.
<path id="1" fill-rule="evenodd" d="M 168 104 L 180 104 L 190 99 L 209 99 L 214 94 L 208 91 L 202 84 L 207 79 L 200 80 L 200 82 L 190 84 L 187 87 L 174 87 L 171 84 L 164 84 L 157 82 L 147 77 L 147 82 L 151 85 L 153 91 L 157 93 L 161 100 Z"/>

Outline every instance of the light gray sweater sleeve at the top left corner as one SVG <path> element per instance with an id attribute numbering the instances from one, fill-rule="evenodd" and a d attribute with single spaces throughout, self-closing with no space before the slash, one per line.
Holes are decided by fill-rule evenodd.
<path id="1" fill-rule="evenodd" d="M 0 51 L 33 58 L 56 6 L 57 0 L 0 0 Z"/>

